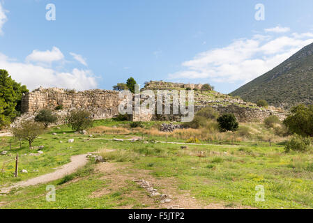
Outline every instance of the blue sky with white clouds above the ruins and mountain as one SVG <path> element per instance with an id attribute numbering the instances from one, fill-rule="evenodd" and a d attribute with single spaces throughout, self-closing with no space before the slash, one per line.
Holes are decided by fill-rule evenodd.
<path id="1" fill-rule="evenodd" d="M 0 0 L 0 69 L 30 90 L 134 77 L 230 93 L 313 43 L 312 10 L 312 0 Z"/>

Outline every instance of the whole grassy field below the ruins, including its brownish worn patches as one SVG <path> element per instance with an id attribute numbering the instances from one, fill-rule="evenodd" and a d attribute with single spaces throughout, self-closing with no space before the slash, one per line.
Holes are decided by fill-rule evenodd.
<path id="1" fill-rule="evenodd" d="M 128 132 L 123 132 L 127 122 L 96 121 L 96 130 L 100 126 L 108 128 L 106 133 L 91 130 L 92 137 L 75 134 L 66 126 L 54 127 L 35 141 L 33 146 L 45 146 L 43 154 L 36 156 L 30 153 L 37 153 L 37 149 L 30 150 L 26 142 L 22 148 L 15 142 L 10 150 L 6 141 L 11 139 L 3 138 L 1 151 L 8 151 L 8 155 L 0 155 L 0 163 L 12 161 L 0 173 L 0 187 L 53 172 L 70 162 L 72 155 L 98 151 L 107 162 L 90 160 L 77 173 L 49 183 L 56 187 L 56 202 L 46 201 L 48 184 L 44 184 L 0 196 L 0 208 L 167 208 L 176 204 L 182 208 L 313 208 L 313 155 L 284 153 L 284 139 L 277 139 L 272 146 L 253 137 L 201 140 L 206 145 L 190 144 L 181 149 L 181 144 L 166 141 L 183 143 L 183 137 L 166 137 L 158 132 L 148 135 L 147 131 L 158 123 L 144 125 L 145 129 L 125 128 Z M 252 125 L 257 128 L 261 124 Z M 144 140 L 107 140 L 135 136 Z M 75 142 L 68 144 L 68 139 Z M 28 171 L 18 178 L 13 176 L 16 153 L 20 155 L 19 169 Z M 171 194 L 171 204 L 148 197 L 148 192 L 133 181 L 142 178 L 158 191 Z M 264 186 L 264 202 L 255 201 L 257 185 Z"/>

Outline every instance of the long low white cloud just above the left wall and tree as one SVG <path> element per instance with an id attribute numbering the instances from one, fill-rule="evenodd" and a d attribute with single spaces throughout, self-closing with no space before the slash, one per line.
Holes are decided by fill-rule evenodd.
<path id="1" fill-rule="evenodd" d="M 49 61 L 45 59 L 45 61 Z M 50 60 L 51 61 L 51 60 Z M 61 87 L 65 89 L 95 89 L 96 78 L 91 70 L 73 68 L 70 72 L 63 72 L 53 68 L 46 68 L 33 63 L 20 63 L 15 59 L 0 53 L 0 68 L 8 70 L 17 82 L 22 82 L 28 89 L 33 90 L 39 86 Z"/>

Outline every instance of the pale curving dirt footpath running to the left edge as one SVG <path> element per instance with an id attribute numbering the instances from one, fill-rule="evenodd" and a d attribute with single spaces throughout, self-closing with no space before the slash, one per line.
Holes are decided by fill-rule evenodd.
<path id="1" fill-rule="evenodd" d="M 14 185 L 10 187 L 5 187 L 5 188 L 0 189 L 0 192 L 8 193 L 10 192 L 10 190 L 12 190 L 15 187 L 28 187 L 28 186 L 37 185 L 39 183 L 48 183 L 50 181 L 63 178 L 64 176 L 68 174 L 74 173 L 80 167 L 84 167 L 84 165 L 86 165 L 88 162 L 88 158 L 86 156 L 87 156 L 86 154 L 74 155 L 70 158 L 70 162 L 68 164 L 65 164 L 62 167 L 59 167 L 59 169 L 57 169 L 53 173 L 45 174 L 42 176 L 38 176 L 36 178 L 31 178 L 29 180 L 24 180 L 22 182 L 15 183 Z"/>

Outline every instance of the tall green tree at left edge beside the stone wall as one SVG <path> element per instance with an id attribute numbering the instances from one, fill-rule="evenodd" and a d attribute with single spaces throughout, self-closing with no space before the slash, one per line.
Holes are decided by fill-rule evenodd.
<path id="1" fill-rule="evenodd" d="M 15 82 L 6 70 L 0 70 L 0 128 L 20 113 L 22 94 L 27 91 L 26 86 Z"/>

